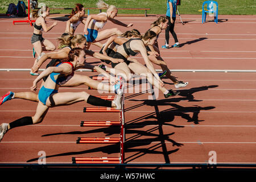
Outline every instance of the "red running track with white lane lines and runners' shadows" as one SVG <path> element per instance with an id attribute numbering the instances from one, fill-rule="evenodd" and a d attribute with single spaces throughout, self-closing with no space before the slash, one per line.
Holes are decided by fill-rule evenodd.
<path id="1" fill-rule="evenodd" d="M 202 24 L 200 15 L 181 17 L 185 24 L 176 22 L 175 31 L 182 47 L 160 48 L 160 51 L 169 68 L 179 71 L 173 74 L 179 80 L 188 81 L 189 85 L 179 89 L 179 96 L 168 99 L 155 90 L 157 100 L 151 100 L 150 89 L 145 89 L 144 83 L 126 90 L 125 162 L 207 163 L 209 152 L 215 151 L 217 163 L 255 164 L 256 16 L 220 15 L 218 24 Z M 142 33 L 156 18 L 117 17 L 125 23 L 133 22 L 133 28 Z M 0 68 L 29 69 L 34 62 L 30 43 L 32 28 L 28 24 L 13 26 L 13 20 L 0 19 Z M 53 19 L 47 20 L 51 21 Z M 44 38 L 56 45 L 56 38 L 65 27 L 65 22 L 58 23 L 52 31 L 43 33 Z M 111 27 L 113 24 L 107 23 L 104 28 Z M 81 33 L 83 28 L 79 26 L 76 33 Z M 131 29 L 118 28 L 122 31 Z M 163 45 L 164 31 L 158 42 L 159 46 Z M 99 51 L 97 47 L 91 48 Z M 137 59 L 142 61 L 141 55 Z M 88 62 L 100 63 L 92 57 L 88 57 Z M 156 65 L 155 68 L 160 69 Z M 186 69 L 240 72 L 184 72 Z M 77 74 L 96 75 L 90 72 Z M 1 71 L 0 95 L 9 90 L 29 91 L 34 78 L 27 71 Z M 177 90 L 170 80 L 163 80 L 166 88 Z M 82 90 L 99 95 L 87 86 L 61 88 L 60 92 Z M 0 163 L 38 163 L 39 151 L 46 152 L 48 164 L 72 163 L 72 157 L 119 157 L 119 144 L 76 144 L 78 137 L 117 138 L 119 135 L 116 126 L 80 127 L 80 122 L 85 120 L 118 119 L 116 113 L 107 113 L 104 117 L 82 113 L 85 106 L 91 107 L 80 102 L 52 108 L 42 123 L 9 131 L 0 143 Z M 33 115 L 35 109 L 35 102 L 8 101 L 0 106 L 1 123 Z"/>

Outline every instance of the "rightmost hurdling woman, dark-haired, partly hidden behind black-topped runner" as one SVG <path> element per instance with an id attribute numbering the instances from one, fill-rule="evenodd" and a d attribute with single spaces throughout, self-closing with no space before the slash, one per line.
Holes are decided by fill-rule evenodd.
<path id="1" fill-rule="evenodd" d="M 157 20 L 155 20 L 155 22 L 151 24 L 150 30 L 154 31 L 158 38 L 160 32 L 166 29 L 167 26 L 168 26 L 168 19 L 165 16 L 160 16 Z M 160 56 L 157 39 L 154 45 L 146 46 L 146 49 L 148 51 L 148 58 L 150 59 L 150 61 L 154 64 L 160 65 L 160 67 L 164 71 L 164 75 L 166 75 L 167 78 L 169 78 L 172 82 L 174 82 L 175 88 L 180 88 L 188 85 L 188 82 L 178 81 L 175 76 L 171 75 L 171 71 L 167 67 L 166 62 Z"/>

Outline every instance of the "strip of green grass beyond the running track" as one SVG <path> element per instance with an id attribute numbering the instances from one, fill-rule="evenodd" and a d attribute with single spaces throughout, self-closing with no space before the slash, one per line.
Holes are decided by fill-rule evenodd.
<path id="1" fill-rule="evenodd" d="M 27 3 L 26 0 L 24 0 Z M 39 0 L 49 7 L 75 7 L 75 3 L 81 3 L 85 7 L 96 7 L 97 0 Z M 117 7 L 148 7 L 151 10 L 148 14 L 166 14 L 166 0 L 105 0 L 109 5 Z M 180 14 L 201 14 L 204 0 L 181 0 L 178 6 Z M 217 0 L 218 14 L 220 15 L 255 15 L 256 0 Z M 9 3 L 18 3 L 18 0 L 0 0 L 0 13 L 5 14 Z M 69 14 L 71 10 L 51 10 L 51 13 Z M 90 13 L 98 13 L 98 10 L 90 10 Z M 119 14 L 144 14 L 143 10 L 119 10 Z"/>

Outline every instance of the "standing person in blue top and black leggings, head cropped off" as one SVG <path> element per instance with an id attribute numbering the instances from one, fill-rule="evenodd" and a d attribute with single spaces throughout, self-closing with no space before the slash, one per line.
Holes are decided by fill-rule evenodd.
<path id="1" fill-rule="evenodd" d="M 175 44 L 171 47 L 180 47 L 179 46 L 179 40 L 177 39 L 177 35 L 174 31 L 174 24 L 176 20 L 176 10 L 177 10 L 177 0 L 167 0 L 167 11 L 166 11 L 166 17 L 169 20 L 168 27 L 166 28 L 166 44 L 162 46 L 162 48 L 170 48 L 169 47 L 169 31 L 172 34 L 172 37 L 174 38 Z"/>

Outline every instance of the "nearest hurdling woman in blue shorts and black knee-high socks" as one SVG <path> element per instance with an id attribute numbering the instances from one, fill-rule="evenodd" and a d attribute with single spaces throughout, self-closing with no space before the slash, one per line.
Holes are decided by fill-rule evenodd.
<path id="1" fill-rule="evenodd" d="M 33 117 L 19 118 L 11 123 L 2 123 L 0 126 L 0 141 L 3 135 L 11 129 L 19 126 L 34 125 L 43 121 L 47 114 L 49 107 L 56 107 L 61 105 L 71 105 L 76 102 L 85 101 L 94 106 L 113 107 L 121 109 L 122 91 L 118 90 L 117 97 L 114 101 L 102 100 L 101 98 L 91 96 L 86 92 L 61 92 L 59 93 L 59 83 L 67 81 L 69 76 L 73 74 L 76 69 L 79 69 L 85 64 L 85 52 L 81 48 L 74 48 L 69 52 L 68 60 L 58 64 L 56 67 L 48 67 L 43 71 L 33 82 L 30 88 L 35 92 L 37 84 L 43 77 L 47 77 L 44 86 L 39 90 L 38 106 Z"/>

